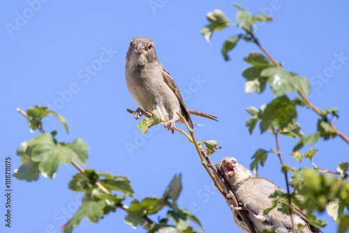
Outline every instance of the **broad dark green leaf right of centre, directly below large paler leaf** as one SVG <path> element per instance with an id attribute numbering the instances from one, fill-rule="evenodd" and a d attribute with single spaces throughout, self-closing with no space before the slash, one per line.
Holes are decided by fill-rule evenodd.
<path id="1" fill-rule="evenodd" d="M 274 128 L 273 123 L 276 121 L 280 129 L 287 127 L 290 123 L 295 123 L 297 119 L 297 111 L 295 105 L 287 96 L 280 96 L 267 104 L 264 110 L 260 110 L 258 117 L 262 119 L 260 122 L 261 132 L 265 132 L 269 128 Z"/>

